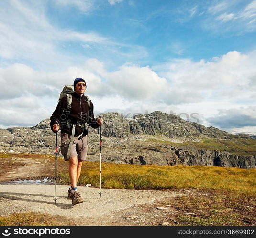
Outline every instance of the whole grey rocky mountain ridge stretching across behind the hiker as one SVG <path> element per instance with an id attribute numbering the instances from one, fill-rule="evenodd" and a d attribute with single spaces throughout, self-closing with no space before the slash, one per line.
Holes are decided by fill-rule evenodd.
<path id="1" fill-rule="evenodd" d="M 233 155 L 223 151 L 173 146 L 174 142 L 200 141 L 202 138 L 236 140 L 240 135 L 232 135 L 214 127 L 205 127 L 185 121 L 177 115 L 159 111 L 131 118 L 119 113 L 106 113 L 101 116 L 106 122 L 106 125 L 102 126 L 103 161 L 140 165 L 256 167 L 255 155 Z M 49 119 L 45 119 L 33 127 L 0 129 L 0 151 L 54 154 L 55 134 L 51 131 L 49 122 Z M 159 138 L 169 143 L 156 143 Z M 98 161 L 97 129 L 89 127 L 88 141 L 88 159 Z"/>

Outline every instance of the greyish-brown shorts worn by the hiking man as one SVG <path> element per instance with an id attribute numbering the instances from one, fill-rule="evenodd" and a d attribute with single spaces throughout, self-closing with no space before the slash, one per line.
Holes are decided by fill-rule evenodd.
<path id="1" fill-rule="evenodd" d="M 67 133 L 61 133 L 61 154 L 64 156 L 64 160 L 67 161 L 69 158 L 78 156 L 80 160 L 86 160 L 88 145 L 87 145 L 87 136 L 82 137 L 79 140 L 75 140 L 71 145 L 71 152 L 69 158 L 67 158 L 67 150 L 69 143 L 65 144 L 64 141 L 70 139 L 70 135 Z"/>

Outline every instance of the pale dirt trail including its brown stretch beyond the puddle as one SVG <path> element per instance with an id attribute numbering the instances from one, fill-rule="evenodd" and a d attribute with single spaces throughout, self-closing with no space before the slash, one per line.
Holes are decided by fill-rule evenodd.
<path id="1" fill-rule="evenodd" d="M 78 187 L 84 202 L 72 205 L 67 197 L 67 185 L 57 185 L 54 204 L 54 184 L 10 184 L 4 181 L 35 179 L 54 172 L 47 160 L 31 158 L 0 158 L 0 216 L 12 213 L 40 212 L 60 216 L 64 225 L 159 225 L 177 211 L 160 206 L 161 200 L 189 194 L 189 190 L 124 190 Z M 157 208 L 158 207 L 158 208 Z M 160 208 L 159 208 L 160 207 Z M 79 219 L 76 219 L 76 218 Z M 66 222 L 66 223 L 65 223 Z"/>

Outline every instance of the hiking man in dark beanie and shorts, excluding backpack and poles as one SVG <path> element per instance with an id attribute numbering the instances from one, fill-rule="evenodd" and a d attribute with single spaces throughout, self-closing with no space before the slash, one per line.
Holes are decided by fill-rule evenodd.
<path id="1" fill-rule="evenodd" d="M 78 204 L 82 203 L 83 199 L 77 190 L 77 182 L 88 151 L 88 130 L 85 124 L 87 123 L 96 129 L 103 124 L 103 119 L 94 118 L 93 104 L 84 95 L 85 80 L 76 78 L 73 86 L 75 92 L 67 94 L 59 100 L 50 117 L 50 126 L 55 133 L 59 129 L 61 130 L 61 154 L 64 156 L 64 160 L 68 161 L 68 173 L 71 182 L 68 197 L 72 198 L 72 204 Z M 71 104 L 68 98 L 72 100 Z"/>

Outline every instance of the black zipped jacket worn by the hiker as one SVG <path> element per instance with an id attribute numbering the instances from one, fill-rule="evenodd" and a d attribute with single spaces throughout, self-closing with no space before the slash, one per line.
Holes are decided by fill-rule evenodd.
<path id="1" fill-rule="evenodd" d="M 67 96 L 63 97 L 58 103 L 55 111 L 50 117 L 50 126 L 53 132 L 53 125 L 60 124 L 61 132 L 71 134 L 71 129 L 67 127 L 67 122 L 71 124 L 89 124 L 92 128 L 96 129 L 100 125 L 96 122 L 93 114 L 93 104 L 90 102 L 90 107 L 88 108 L 87 97 L 78 95 L 77 93 L 72 94 L 71 109 L 65 110 L 67 108 Z M 75 136 L 82 133 L 82 128 L 80 126 L 75 127 Z M 83 136 L 88 134 L 88 130 L 84 129 Z"/>

